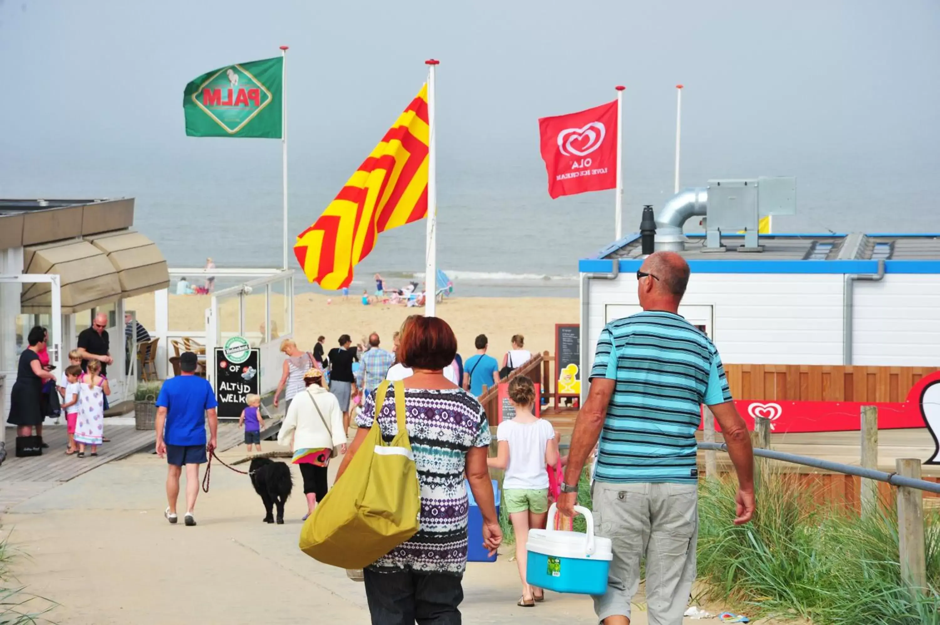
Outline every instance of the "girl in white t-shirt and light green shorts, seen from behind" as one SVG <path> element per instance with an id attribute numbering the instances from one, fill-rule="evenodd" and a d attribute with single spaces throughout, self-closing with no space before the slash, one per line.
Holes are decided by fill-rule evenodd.
<path id="1" fill-rule="evenodd" d="M 509 383 L 509 402 L 516 415 L 503 421 L 496 429 L 499 451 L 487 459 L 493 468 L 505 469 L 503 506 L 516 533 L 516 564 L 523 581 L 521 607 L 532 607 L 545 598 L 540 588 L 525 583 L 525 543 L 530 527 L 543 528 L 548 513 L 548 471 L 546 465 L 558 461 L 555 429 L 545 419 L 532 414 L 535 386 L 525 376 L 516 376 Z"/>

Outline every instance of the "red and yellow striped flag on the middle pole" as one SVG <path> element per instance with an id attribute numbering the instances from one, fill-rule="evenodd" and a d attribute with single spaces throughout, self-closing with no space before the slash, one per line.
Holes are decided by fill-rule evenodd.
<path id="1" fill-rule="evenodd" d="M 294 254 L 310 282 L 341 289 L 380 232 L 428 214 L 428 86 L 352 174 L 320 219 L 297 237 Z"/>

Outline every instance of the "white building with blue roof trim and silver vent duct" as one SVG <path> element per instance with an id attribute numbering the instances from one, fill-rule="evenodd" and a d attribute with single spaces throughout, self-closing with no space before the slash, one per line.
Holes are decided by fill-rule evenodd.
<path id="1" fill-rule="evenodd" d="M 747 235 L 743 223 L 709 223 L 713 188 L 683 191 L 656 215 L 654 232 L 648 222 L 645 232 L 579 260 L 582 371 L 603 325 L 640 311 L 635 272 L 653 250 L 688 260 L 680 313 L 726 364 L 940 365 L 940 234 L 758 238 L 757 212 Z M 692 217 L 704 218 L 705 232 L 685 231 Z"/>

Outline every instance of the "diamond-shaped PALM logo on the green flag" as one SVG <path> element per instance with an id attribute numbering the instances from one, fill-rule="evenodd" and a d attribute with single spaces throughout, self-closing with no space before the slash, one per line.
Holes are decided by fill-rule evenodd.
<path id="1" fill-rule="evenodd" d="M 232 65 L 211 74 L 192 98 L 229 134 L 242 130 L 272 100 L 271 91 L 241 65 Z"/>

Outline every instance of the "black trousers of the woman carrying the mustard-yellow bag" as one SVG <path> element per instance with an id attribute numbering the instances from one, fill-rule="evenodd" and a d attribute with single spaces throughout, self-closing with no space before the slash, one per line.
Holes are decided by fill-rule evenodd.
<path id="1" fill-rule="evenodd" d="M 372 625 L 461 625 L 462 575 L 364 570 Z"/>

